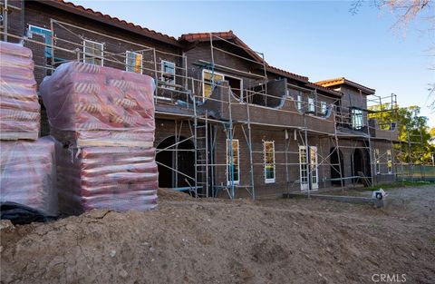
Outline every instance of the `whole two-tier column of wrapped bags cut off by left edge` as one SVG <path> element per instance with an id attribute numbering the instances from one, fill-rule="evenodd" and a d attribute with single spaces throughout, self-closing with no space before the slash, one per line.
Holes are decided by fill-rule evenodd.
<path id="1" fill-rule="evenodd" d="M 32 52 L 0 42 L 0 201 L 57 215 L 54 142 L 39 139 Z"/>

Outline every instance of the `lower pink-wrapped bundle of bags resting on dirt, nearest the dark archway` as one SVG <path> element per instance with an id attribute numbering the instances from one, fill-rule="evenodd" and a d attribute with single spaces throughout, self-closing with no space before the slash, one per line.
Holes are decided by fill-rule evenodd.
<path id="1" fill-rule="evenodd" d="M 63 146 L 56 142 L 59 208 L 149 211 L 157 207 L 155 149 Z"/>

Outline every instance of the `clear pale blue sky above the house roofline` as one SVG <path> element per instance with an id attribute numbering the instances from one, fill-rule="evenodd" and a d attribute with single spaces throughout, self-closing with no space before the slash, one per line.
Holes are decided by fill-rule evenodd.
<path id="1" fill-rule="evenodd" d="M 268 64 L 308 76 L 311 82 L 346 77 L 397 94 L 401 106 L 418 105 L 435 127 L 429 83 L 435 83 L 435 33 L 424 18 L 406 30 L 392 28 L 395 17 L 365 2 L 353 15 L 352 1 L 83 1 L 103 14 L 176 38 L 180 34 L 232 30 L 265 54 Z M 435 7 L 429 13 L 435 15 Z M 426 14 L 427 15 L 427 14 Z M 433 55 L 433 53 L 432 53 Z"/>

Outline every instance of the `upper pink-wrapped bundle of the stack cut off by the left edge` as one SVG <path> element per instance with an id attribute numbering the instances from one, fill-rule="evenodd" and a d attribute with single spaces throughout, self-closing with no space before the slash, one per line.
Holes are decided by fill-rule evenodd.
<path id="1" fill-rule="evenodd" d="M 0 42 L 0 139 L 38 139 L 40 104 L 30 49 Z"/>

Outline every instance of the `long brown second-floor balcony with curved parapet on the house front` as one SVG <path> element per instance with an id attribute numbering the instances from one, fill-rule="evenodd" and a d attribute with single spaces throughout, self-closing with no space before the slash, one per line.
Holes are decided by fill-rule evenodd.
<path id="1" fill-rule="evenodd" d="M 298 103 L 289 95 L 285 79 L 268 82 L 266 90 L 269 94 L 257 92 L 256 88 L 246 89 L 239 98 L 226 82 L 218 83 L 199 109 L 222 121 L 293 129 L 304 129 L 306 125 L 309 132 L 334 133 L 332 105 L 326 105 L 321 112 L 319 106 Z M 298 109 L 311 112 L 303 113 Z"/>

